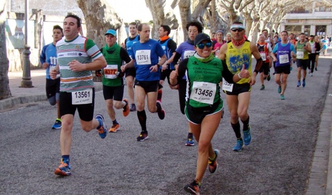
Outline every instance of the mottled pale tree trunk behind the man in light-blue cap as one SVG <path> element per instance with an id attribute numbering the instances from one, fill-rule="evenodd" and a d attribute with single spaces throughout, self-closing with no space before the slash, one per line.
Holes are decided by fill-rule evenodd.
<path id="1" fill-rule="evenodd" d="M 105 44 L 107 30 L 118 30 L 123 20 L 107 0 L 77 0 L 86 22 L 86 37 L 92 39 L 100 48 Z"/>

